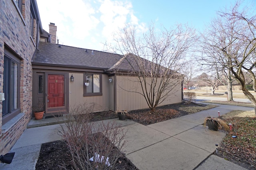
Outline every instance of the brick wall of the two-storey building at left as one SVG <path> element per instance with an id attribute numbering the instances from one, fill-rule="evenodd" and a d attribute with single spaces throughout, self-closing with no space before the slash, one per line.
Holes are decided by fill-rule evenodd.
<path id="1" fill-rule="evenodd" d="M 0 154 L 10 151 L 32 115 L 32 55 L 35 37 L 30 37 L 30 0 L 22 0 L 19 12 L 13 0 L 0 0 L 0 92 L 3 92 L 4 45 L 22 58 L 20 70 L 20 108 L 24 116 L 2 133 L 2 102 L 0 102 Z M 36 25 L 35 25 L 36 27 Z M 36 33 L 36 32 L 35 32 Z"/>

